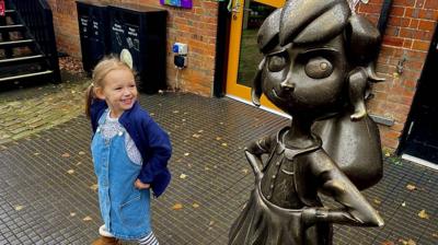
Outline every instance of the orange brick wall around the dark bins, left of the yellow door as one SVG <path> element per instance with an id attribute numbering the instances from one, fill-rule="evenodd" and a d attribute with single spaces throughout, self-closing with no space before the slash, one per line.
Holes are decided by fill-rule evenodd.
<path id="1" fill-rule="evenodd" d="M 59 51 L 80 57 L 78 15 L 74 0 L 48 0 Z M 102 3 L 135 3 L 168 10 L 168 84 L 210 96 L 215 74 L 217 1 L 193 0 L 192 9 L 161 5 L 159 0 L 101 0 Z M 173 43 L 188 45 L 186 69 L 176 73 Z M 177 75 L 177 77 L 176 77 Z"/>

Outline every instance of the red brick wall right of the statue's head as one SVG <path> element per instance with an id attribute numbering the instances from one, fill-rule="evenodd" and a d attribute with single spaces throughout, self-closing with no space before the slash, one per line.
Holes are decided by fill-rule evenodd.
<path id="1" fill-rule="evenodd" d="M 377 24 L 382 3 L 383 0 L 360 3 L 357 12 Z M 395 120 L 392 127 L 379 127 L 387 148 L 399 145 L 437 20 L 438 0 L 393 0 L 377 63 L 378 73 L 387 81 L 373 85 L 376 96 L 369 102 L 371 114 Z M 396 65 L 403 58 L 406 61 L 400 74 Z"/>

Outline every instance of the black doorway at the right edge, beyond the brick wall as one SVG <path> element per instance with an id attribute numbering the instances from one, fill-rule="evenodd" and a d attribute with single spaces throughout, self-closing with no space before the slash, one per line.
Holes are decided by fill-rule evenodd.
<path id="1" fill-rule="evenodd" d="M 438 164 L 438 31 L 418 82 L 401 151 Z"/>

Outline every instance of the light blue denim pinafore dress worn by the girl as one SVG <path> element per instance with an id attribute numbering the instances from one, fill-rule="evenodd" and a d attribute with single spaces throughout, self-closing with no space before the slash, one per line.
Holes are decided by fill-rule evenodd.
<path id="1" fill-rule="evenodd" d="M 99 205 L 106 229 L 117 238 L 138 240 L 151 232 L 150 191 L 134 186 L 141 165 L 134 163 L 126 151 L 123 128 L 111 139 L 102 136 L 108 110 L 99 119 L 91 152 L 97 176 Z"/>

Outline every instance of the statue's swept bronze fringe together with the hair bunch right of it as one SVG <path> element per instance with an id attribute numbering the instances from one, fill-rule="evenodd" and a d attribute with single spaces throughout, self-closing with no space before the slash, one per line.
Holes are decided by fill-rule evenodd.
<path id="1" fill-rule="evenodd" d="M 367 66 L 376 57 L 379 31 L 364 16 L 351 15 L 346 0 L 288 0 L 262 24 L 257 44 L 268 54 L 278 45 L 323 43 L 342 33 L 349 62 Z"/>

